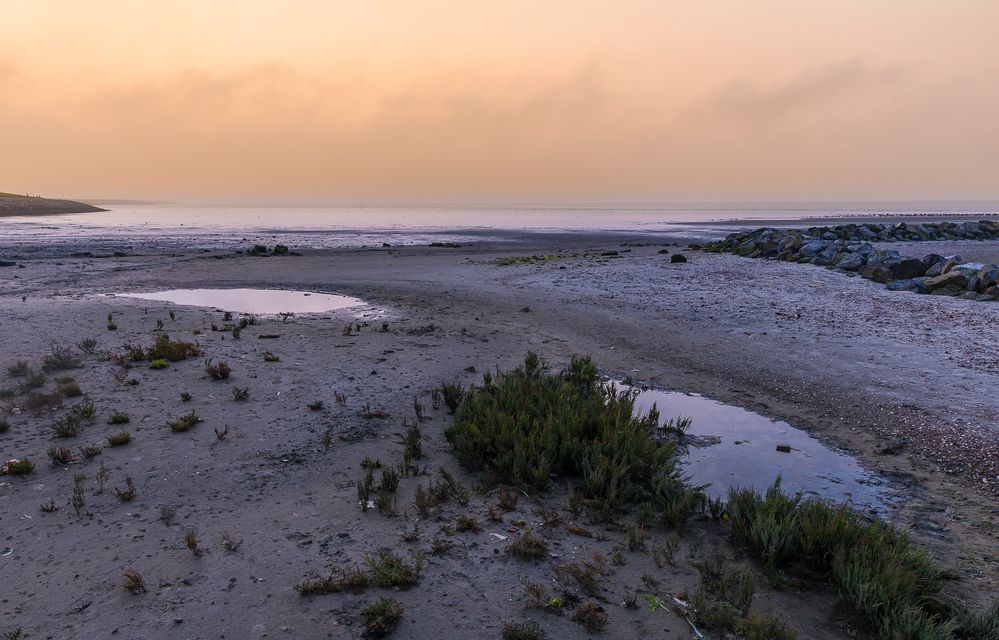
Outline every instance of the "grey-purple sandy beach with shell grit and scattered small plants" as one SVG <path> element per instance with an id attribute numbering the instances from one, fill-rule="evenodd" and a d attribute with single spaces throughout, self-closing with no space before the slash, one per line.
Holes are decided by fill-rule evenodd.
<path id="1" fill-rule="evenodd" d="M 442 382 L 480 382 L 483 372 L 515 366 L 528 351 L 555 366 L 588 354 L 609 377 L 741 406 L 842 448 L 904 497 L 893 518 L 954 572 L 948 593 L 970 606 L 990 601 L 999 579 L 999 401 L 987 390 L 999 372 L 992 338 L 999 307 L 889 292 L 822 268 L 704 254 L 672 240 L 518 234 L 457 248 L 267 258 L 229 248 L 73 258 L 85 247 L 67 245 L 22 256 L 23 268 L 0 272 L 0 362 L 37 363 L 52 342 L 96 339 L 97 353 L 79 353 L 83 366 L 62 373 L 76 379 L 98 415 L 64 441 L 52 437 L 52 424 L 77 399 L 39 411 L 21 409 L 23 397 L 4 401 L 21 410 L 6 416 L 0 457 L 27 456 L 37 467 L 0 478 L 0 567 L 8 584 L 0 619 L 30 638 L 359 637 L 358 610 L 370 597 L 303 597 L 294 585 L 333 563 L 361 562 L 383 547 L 406 556 L 447 535 L 452 544 L 427 555 L 418 586 L 392 594 L 406 611 L 396 637 L 495 638 L 511 619 L 535 621 L 550 638 L 579 637 L 570 618 L 526 607 L 521 578 L 550 581 L 548 563 L 506 552 L 512 532 L 539 530 L 550 510 L 574 519 L 564 511 L 566 486 L 521 495 L 503 522 L 488 520 L 495 493 L 474 490 L 478 478 L 442 437 L 450 416 L 431 408 Z M 947 246 L 893 248 L 994 250 L 913 244 Z M 676 253 L 688 261 L 670 262 Z M 560 257 L 496 262 L 511 256 Z M 345 294 L 365 305 L 261 316 L 233 339 L 211 330 L 224 324 L 220 310 L 106 295 L 236 287 Z M 115 331 L 106 327 L 109 314 Z M 348 323 L 362 326 L 344 335 Z M 124 343 L 148 346 L 160 333 L 196 342 L 203 357 L 163 370 L 140 364 L 128 376 L 138 380 L 133 386 L 98 355 Z M 265 361 L 265 352 L 279 361 Z M 229 363 L 231 377 L 212 381 L 204 357 Z M 236 387 L 249 398 L 234 400 Z M 413 494 L 427 477 L 404 477 L 397 515 L 363 512 L 355 486 L 361 461 L 394 464 L 403 420 L 415 419 L 414 398 L 427 414 L 420 466 L 429 474 L 448 469 L 473 489 L 469 503 L 419 517 Z M 316 401 L 322 409 L 310 410 Z M 192 410 L 202 421 L 190 431 L 167 428 Z M 106 424 L 116 411 L 129 423 Z M 101 443 L 122 427 L 132 441 L 105 445 L 93 460 L 50 466 L 46 459 L 49 447 Z M 94 480 L 101 463 L 109 474 L 103 492 Z M 70 504 L 78 473 L 86 474 L 85 515 Z M 136 487 L 129 502 L 113 492 L 126 477 Z M 48 501 L 58 510 L 40 511 Z M 175 511 L 167 521 L 164 507 Z M 455 533 L 462 514 L 476 518 L 481 532 Z M 400 530 L 415 524 L 418 541 L 404 541 Z M 655 576 L 662 597 L 680 597 L 697 583 L 691 560 L 708 549 L 749 564 L 710 521 L 688 527 L 676 566 L 665 567 L 647 551 L 629 550 L 620 528 L 579 524 L 593 537 L 545 529 L 549 561 L 623 550 L 626 563 L 608 568 L 599 589 L 607 637 L 692 637 L 682 617 L 623 606 L 626 593 L 649 590 L 643 576 Z M 188 532 L 203 554 L 185 547 Z M 224 534 L 242 544 L 227 550 Z M 649 547 L 664 537 L 650 532 Z M 144 576 L 148 593 L 121 588 L 129 567 Z M 846 612 L 823 604 L 834 600 L 823 585 L 777 590 L 760 580 L 754 606 L 786 620 L 799 638 L 865 637 Z"/>

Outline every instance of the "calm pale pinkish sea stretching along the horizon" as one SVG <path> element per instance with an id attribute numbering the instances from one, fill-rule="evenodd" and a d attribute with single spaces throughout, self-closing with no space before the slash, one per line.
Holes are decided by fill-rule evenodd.
<path id="1" fill-rule="evenodd" d="M 100 205 L 99 213 L 0 218 L 0 249 L 48 243 L 111 248 L 213 247 L 267 242 L 298 247 L 420 244 L 509 237 L 511 232 L 623 231 L 718 235 L 738 226 L 798 220 L 994 218 L 999 202 L 729 203 L 580 206 L 247 207 L 187 204 Z M 816 224 L 818 222 L 810 222 Z M 123 245 L 123 246 L 124 246 Z"/>

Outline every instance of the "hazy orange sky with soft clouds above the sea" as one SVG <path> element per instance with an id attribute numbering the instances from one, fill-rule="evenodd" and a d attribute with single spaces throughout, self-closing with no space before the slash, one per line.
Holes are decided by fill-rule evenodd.
<path id="1" fill-rule="evenodd" d="M 0 191 L 999 198 L 995 0 L 0 0 Z"/>

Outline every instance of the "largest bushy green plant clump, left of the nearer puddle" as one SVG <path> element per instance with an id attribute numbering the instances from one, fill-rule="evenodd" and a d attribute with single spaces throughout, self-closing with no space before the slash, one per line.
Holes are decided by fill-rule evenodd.
<path id="1" fill-rule="evenodd" d="M 551 373 L 530 353 L 464 393 L 444 435 L 463 465 L 498 481 L 544 489 L 553 474 L 574 476 L 597 511 L 649 503 L 663 524 L 681 526 L 703 488 L 682 477 L 676 445 L 659 437 L 658 412 L 634 415 L 635 395 L 602 384 L 589 358 Z"/>

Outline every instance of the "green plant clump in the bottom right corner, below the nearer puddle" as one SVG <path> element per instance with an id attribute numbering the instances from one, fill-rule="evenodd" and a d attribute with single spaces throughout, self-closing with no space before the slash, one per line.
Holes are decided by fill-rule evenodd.
<path id="1" fill-rule="evenodd" d="M 732 490 L 727 513 L 733 537 L 772 576 L 798 566 L 827 576 L 878 638 L 989 637 L 968 632 L 977 616 L 947 601 L 947 571 L 904 529 L 869 522 L 846 505 L 789 496 L 779 480 L 762 495 Z M 999 615 L 993 620 L 999 627 Z"/>

